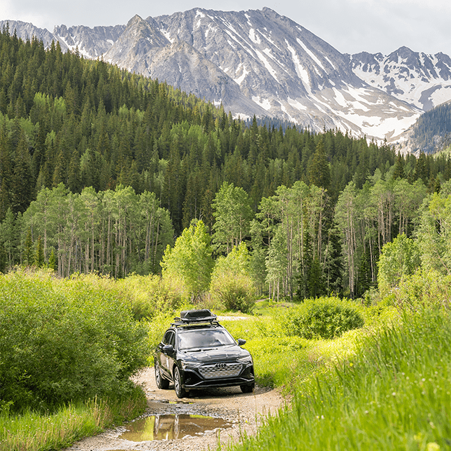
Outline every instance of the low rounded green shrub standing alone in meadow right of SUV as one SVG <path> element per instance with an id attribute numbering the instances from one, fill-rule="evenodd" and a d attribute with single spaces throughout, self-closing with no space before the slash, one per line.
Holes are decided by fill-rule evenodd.
<path id="1" fill-rule="evenodd" d="M 318 298 L 289 309 L 285 322 L 291 335 L 305 339 L 334 339 L 347 330 L 364 325 L 364 318 L 352 301 Z"/>

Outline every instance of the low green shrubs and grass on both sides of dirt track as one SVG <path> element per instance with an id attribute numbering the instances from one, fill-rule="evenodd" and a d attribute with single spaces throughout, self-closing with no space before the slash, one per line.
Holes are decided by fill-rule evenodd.
<path id="1" fill-rule="evenodd" d="M 291 400 L 230 449 L 450 449 L 449 306 L 430 284 L 411 283 L 416 300 L 408 285 L 373 305 L 264 300 L 222 321 L 246 339 L 257 384 Z M 0 298 L 0 451 L 64 448 L 141 414 L 145 395 L 130 376 L 153 364 L 173 316 L 193 307 L 176 287 L 137 275 L 21 270 L 0 275 Z"/>

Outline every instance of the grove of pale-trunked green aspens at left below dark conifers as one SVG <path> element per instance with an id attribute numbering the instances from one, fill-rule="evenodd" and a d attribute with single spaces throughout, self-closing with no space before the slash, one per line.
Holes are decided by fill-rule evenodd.
<path id="1" fill-rule="evenodd" d="M 33 264 L 39 254 L 42 266 L 57 250 L 54 266 L 61 276 L 90 271 L 114 277 L 156 273 L 164 248 L 173 242 L 169 212 L 158 206 L 155 194 L 136 194 L 121 185 L 99 193 L 89 187 L 80 194 L 62 184 L 43 188 L 26 210 L 22 228 L 24 261 Z"/>

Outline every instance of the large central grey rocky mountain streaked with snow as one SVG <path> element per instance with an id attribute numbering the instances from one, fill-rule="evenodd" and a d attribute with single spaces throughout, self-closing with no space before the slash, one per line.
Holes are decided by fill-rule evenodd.
<path id="1" fill-rule="evenodd" d="M 314 130 L 339 127 L 393 139 L 420 114 L 362 81 L 348 56 L 269 8 L 196 8 L 145 21 L 133 17 L 124 35 L 128 38 L 114 42 L 105 60 L 222 102 L 235 115 L 256 113 Z M 196 61 L 184 58 L 181 63 L 180 42 L 182 53 L 196 54 Z M 221 72 L 212 71 L 211 65 Z M 198 66 L 210 71 L 194 70 Z M 244 97 L 252 102 L 246 110 Z"/>

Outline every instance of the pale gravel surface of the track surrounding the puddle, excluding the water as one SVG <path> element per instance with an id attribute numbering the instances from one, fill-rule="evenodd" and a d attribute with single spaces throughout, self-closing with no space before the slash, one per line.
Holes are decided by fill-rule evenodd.
<path id="1" fill-rule="evenodd" d="M 254 393 L 241 393 L 239 387 L 193 391 L 189 398 L 179 400 L 173 389 L 161 390 L 155 384 L 153 368 L 145 368 L 135 382 L 141 384 L 147 396 L 144 416 L 189 414 L 222 418 L 232 423 L 227 429 L 212 429 L 196 436 L 174 440 L 127 441 L 119 436 L 126 426 L 105 430 L 87 437 L 65 451 L 202 451 L 214 450 L 218 443 L 237 442 L 241 434 L 255 434 L 268 415 L 275 414 L 286 400 L 279 390 L 255 387 Z M 142 417 L 140 417 L 142 418 Z"/>

